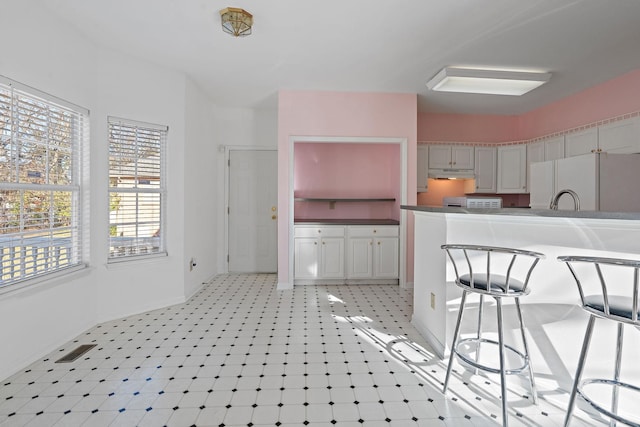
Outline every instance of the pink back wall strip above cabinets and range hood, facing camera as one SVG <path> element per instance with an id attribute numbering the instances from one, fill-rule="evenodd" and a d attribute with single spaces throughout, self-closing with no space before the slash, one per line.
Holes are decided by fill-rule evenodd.
<path id="1" fill-rule="evenodd" d="M 418 141 L 517 141 L 518 117 L 418 113 Z"/>

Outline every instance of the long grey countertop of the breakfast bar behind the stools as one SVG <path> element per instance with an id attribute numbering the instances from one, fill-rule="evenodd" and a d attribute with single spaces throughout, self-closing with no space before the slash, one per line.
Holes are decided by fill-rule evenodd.
<path id="1" fill-rule="evenodd" d="M 640 212 L 605 212 L 605 211 L 571 211 L 552 209 L 529 209 L 529 208 L 458 208 L 442 206 L 414 206 L 402 205 L 401 209 L 416 212 L 433 213 L 454 213 L 454 214 L 474 214 L 474 215 L 508 215 L 508 216 L 531 216 L 548 218 L 588 218 L 588 219 L 622 219 L 640 220 Z"/>

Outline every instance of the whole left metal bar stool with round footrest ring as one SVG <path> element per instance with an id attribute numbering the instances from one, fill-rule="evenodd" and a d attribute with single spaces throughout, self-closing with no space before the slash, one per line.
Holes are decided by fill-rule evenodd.
<path id="1" fill-rule="evenodd" d="M 502 424 L 507 426 L 509 419 L 507 416 L 507 385 L 506 375 L 518 374 L 528 370 L 529 383 L 533 403 L 537 403 L 537 392 L 533 370 L 529 361 L 529 347 L 525 336 L 524 321 L 520 309 L 520 297 L 529 294 L 529 279 L 538 261 L 545 256 L 539 252 L 525 251 L 513 248 L 503 248 L 495 246 L 478 245 L 442 245 L 442 249 L 447 252 L 453 264 L 456 275 L 456 285 L 462 289 L 462 299 L 458 311 L 455 331 L 453 333 L 453 343 L 451 344 L 451 354 L 449 356 L 449 366 L 444 380 L 443 393 L 447 392 L 453 358 L 457 356 L 466 364 L 473 366 L 476 370 L 500 374 L 500 385 L 502 391 Z M 517 275 L 520 279 L 513 276 Z M 460 325 L 462 314 L 465 309 L 467 294 L 474 293 L 480 295 L 480 305 L 478 308 L 478 320 L 476 336 L 460 339 Z M 498 341 L 482 337 L 482 312 L 484 296 L 493 297 L 497 306 L 498 321 Z M 521 352 L 511 345 L 504 343 L 502 298 L 513 298 L 515 300 L 516 312 L 520 324 L 522 344 L 524 351 Z M 465 354 L 461 348 L 463 346 L 475 346 L 476 356 L 473 360 Z M 500 367 L 494 368 L 484 363 L 480 363 L 480 349 L 482 345 L 497 345 L 499 351 Z M 522 364 L 518 367 L 508 369 L 506 366 L 506 351 L 516 355 Z"/>

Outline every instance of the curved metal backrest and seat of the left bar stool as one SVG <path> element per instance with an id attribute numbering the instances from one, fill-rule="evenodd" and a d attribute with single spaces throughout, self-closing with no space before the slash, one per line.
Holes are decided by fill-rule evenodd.
<path id="1" fill-rule="evenodd" d="M 501 296 L 527 294 L 531 273 L 545 257 L 539 252 L 498 246 L 446 244 L 441 248 L 451 260 L 458 284 L 468 275 L 470 288 Z"/>

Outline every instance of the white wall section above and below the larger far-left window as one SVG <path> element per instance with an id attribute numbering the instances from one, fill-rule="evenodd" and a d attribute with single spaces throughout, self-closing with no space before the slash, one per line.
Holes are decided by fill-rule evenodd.
<path id="1" fill-rule="evenodd" d="M 22 17 L 22 18 L 20 18 Z M 28 18 L 27 18 L 28 17 Z M 29 28 L 20 37 L 13 34 Z M 45 36 L 46 35 L 46 36 Z M 90 108 L 96 52 L 30 2 L 4 1 L 0 74 Z M 82 62 L 78 59 L 82 58 Z M 105 196 L 106 197 L 106 196 Z M 0 378 L 27 365 L 95 323 L 95 272 L 0 296 Z"/>

